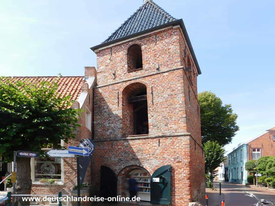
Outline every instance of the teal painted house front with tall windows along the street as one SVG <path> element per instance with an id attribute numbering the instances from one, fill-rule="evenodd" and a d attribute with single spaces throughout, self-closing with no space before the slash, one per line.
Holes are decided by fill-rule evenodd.
<path id="1" fill-rule="evenodd" d="M 227 155 L 229 182 L 243 184 L 247 183 L 248 172 L 245 170 L 247 162 L 247 144 L 240 143 L 237 148 Z"/>

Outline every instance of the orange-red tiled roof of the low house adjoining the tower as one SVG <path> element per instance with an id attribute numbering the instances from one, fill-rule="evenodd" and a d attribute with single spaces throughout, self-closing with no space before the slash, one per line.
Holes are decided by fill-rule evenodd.
<path id="1" fill-rule="evenodd" d="M 57 77 L 10 77 L 13 81 L 30 81 L 31 83 L 39 83 L 43 79 L 53 82 Z M 57 91 L 61 97 L 70 95 L 70 100 L 76 101 L 81 93 L 82 83 L 85 82 L 84 77 L 59 77 L 57 81 Z"/>

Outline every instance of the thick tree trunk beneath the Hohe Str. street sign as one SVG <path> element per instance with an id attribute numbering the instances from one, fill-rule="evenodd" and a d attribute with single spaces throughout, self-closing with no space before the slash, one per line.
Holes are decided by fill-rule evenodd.
<path id="1" fill-rule="evenodd" d="M 31 158 L 18 157 L 16 161 L 16 194 L 31 194 Z M 19 202 L 18 202 L 19 201 Z M 16 198 L 15 204 L 30 205 L 30 201 Z"/>

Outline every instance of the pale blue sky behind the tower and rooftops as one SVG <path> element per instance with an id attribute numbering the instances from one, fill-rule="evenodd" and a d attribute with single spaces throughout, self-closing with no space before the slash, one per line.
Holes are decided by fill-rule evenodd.
<path id="1" fill-rule="evenodd" d="M 198 91 L 231 103 L 246 142 L 275 126 L 274 0 L 155 0 L 182 18 L 202 74 Z M 142 0 L 1 1 L 0 75 L 82 76 L 103 42 Z"/>

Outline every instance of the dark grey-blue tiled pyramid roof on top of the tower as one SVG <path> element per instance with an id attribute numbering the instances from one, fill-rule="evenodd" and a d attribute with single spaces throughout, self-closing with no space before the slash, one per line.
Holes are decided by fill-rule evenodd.
<path id="1" fill-rule="evenodd" d="M 173 16 L 163 10 L 152 0 L 146 2 L 130 16 L 114 33 L 104 42 L 110 42 L 141 31 L 152 29 L 166 23 L 176 21 Z"/>

